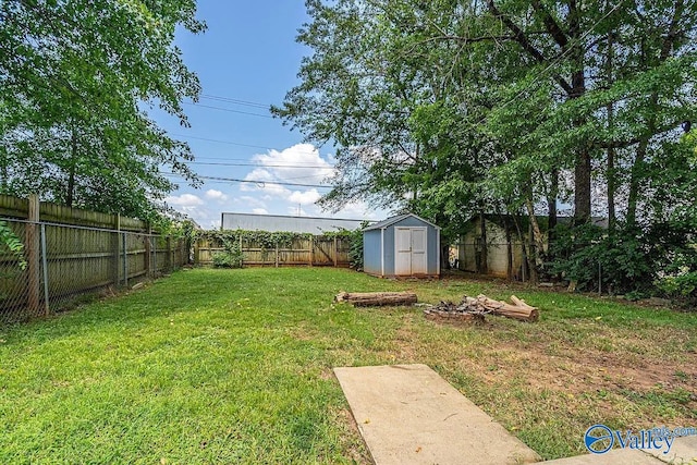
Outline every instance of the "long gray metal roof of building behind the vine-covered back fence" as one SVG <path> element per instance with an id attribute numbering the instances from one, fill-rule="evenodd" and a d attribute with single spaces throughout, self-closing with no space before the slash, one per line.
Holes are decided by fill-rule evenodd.
<path id="1" fill-rule="evenodd" d="M 338 218 L 285 217 L 281 215 L 222 213 L 223 230 L 296 232 L 321 235 L 342 229 L 356 230 L 363 220 L 345 220 Z"/>

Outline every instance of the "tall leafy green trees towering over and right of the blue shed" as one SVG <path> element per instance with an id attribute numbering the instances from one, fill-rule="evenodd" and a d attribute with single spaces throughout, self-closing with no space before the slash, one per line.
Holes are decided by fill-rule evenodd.
<path id="1" fill-rule="evenodd" d="M 340 147 L 325 205 L 408 207 L 452 234 L 473 215 L 524 211 L 535 267 L 554 259 L 542 254 L 537 216 L 553 228 L 560 204 L 573 205 L 579 227 L 608 215 L 621 237 L 644 241 L 674 211 L 692 211 L 694 175 L 673 167 L 690 159 L 676 140 L 697 110 L 694 2 L 307 7 L 298 40 L 311 54 L 274 111 Z M 625 258 L 647 245 L 625 247 Z"/>

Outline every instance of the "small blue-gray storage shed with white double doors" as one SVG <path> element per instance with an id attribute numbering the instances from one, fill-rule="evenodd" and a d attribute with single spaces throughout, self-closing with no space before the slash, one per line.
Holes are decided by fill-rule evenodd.
<path id="1" fill-rule="evenodd" d="M 382 278 L 440 276 L 440 228 L 407 213 L 363 230 L 364 271 Z"/>

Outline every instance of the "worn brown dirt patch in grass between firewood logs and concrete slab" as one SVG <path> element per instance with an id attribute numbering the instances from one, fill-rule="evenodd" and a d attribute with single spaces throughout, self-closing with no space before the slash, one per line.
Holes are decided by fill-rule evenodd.
<path id="1" fill-rule="evenodd" d="M 663 350 L 653 334 L 639 340 L 596 332 L 592 338 L 609 341 L 606 348 L 533 328 L 524 336 L 504 333 L 488 322 L 454 331 L 448 325 L 419 340 L 413 325 L 405 320 L 395 332 L 400 362 L 440 366 L 473 401 L 511 426 L 540 414 L 541 421 L 578 415 L 570 425 L 602 415 L 633 427 L 692 425 L 697 418 L 697 353 Z M 641 405 L 627 409 L 628 403 Z"/>

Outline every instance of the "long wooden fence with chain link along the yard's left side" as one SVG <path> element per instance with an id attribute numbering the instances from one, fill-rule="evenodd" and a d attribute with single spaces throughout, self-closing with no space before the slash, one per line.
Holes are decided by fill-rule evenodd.
<path id="1" fill-rule="evenodd" d="M 0 254 L 0 325 L 60 311 L 99 291 L 152 279 L 188 262 L 183 238 L 3 219 L 26 265 Z"/>

